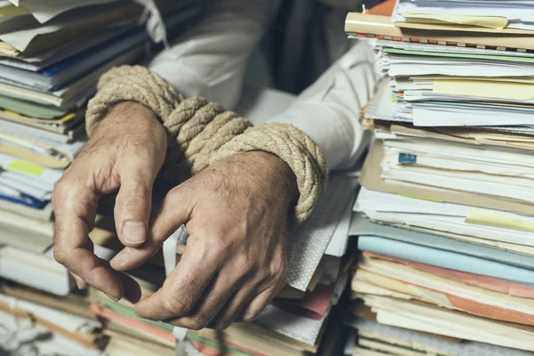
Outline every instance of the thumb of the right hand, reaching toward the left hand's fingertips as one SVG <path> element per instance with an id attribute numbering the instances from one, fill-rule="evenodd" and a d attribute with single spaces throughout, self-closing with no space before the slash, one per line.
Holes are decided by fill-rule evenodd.
<path id="1" fill-rule="evenodd" d="M 183 185 L 183 184 L 182 184 Z M 174 231 L 190 218 L 190 191 L 182 185 L 169 191 L 150 224 L 148 239 L 141 247 L 125 247 L 110 261 L 117 271 L 129 271 L 147 262 Z"/>

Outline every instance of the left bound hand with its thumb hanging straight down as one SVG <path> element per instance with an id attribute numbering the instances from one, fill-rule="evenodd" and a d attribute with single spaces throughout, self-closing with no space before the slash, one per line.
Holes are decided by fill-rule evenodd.
<path id="1" fill-rule="evenodd" d="M 78 287 L 89 283 L 113 299 L 134 303 L 141 297 L 134 279 L 93 254 L 88 234 L 101 195 L 118 190 L 117 235 L 127 247 L 144 243 L 166 143 L 165 128 L 150 109 L 135 102 L 117 104 L 54 187 L 54 257 L 69 268 Z"/>

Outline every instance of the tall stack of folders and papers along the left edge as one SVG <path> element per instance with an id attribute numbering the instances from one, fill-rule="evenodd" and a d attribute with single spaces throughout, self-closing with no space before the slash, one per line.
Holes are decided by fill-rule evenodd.
<path id="1" fill-rule="evenodd" d="M 85 143 L 85 104 L 98 78 L 142 61 L 155 44 L 144 7 L 132 1 L 0 3 L 0 348 L 98 355 L 101 322 L 53 260 L 50 199 Z M 201 12 L 198 1 L 174 3 L 158 1 L 172 10 L 164 12 L 169 34 Z"/>

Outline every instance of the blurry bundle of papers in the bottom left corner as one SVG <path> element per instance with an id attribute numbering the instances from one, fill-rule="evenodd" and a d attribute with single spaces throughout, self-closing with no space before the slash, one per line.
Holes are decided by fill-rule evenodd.
<path id="1" fill-rule="evenodd" d="M 101 322 L 83 295 L 68 298 L 0 284 L 0 350 L 13 355 L 101 355 Z"/>

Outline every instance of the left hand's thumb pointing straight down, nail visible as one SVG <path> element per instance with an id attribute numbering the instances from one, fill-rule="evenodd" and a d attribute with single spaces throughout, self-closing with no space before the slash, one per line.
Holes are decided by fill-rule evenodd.
<path id="1" fill-rule="evenodd" d="M 141 159 L 125 158 L 118 168 L 120 190 L 115 202 L 118 239 L 126 247 L 139 247 L 147 237 L 152 186 L 157 172 Z"/>

